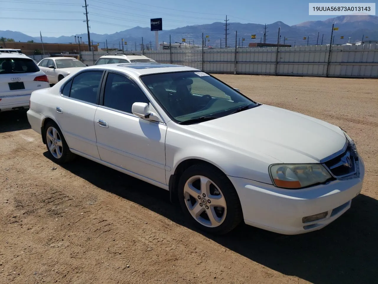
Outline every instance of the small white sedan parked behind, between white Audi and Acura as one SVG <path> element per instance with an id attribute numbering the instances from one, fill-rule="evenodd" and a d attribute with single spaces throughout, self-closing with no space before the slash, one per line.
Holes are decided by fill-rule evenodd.
<path id="1" fill-rule="evenodd" d="M 46 73 L 50 84 L 56 84 L 65 76 L 87 67 L 76 58 L 64 56 L 44 58 L 37 65 Z"/>

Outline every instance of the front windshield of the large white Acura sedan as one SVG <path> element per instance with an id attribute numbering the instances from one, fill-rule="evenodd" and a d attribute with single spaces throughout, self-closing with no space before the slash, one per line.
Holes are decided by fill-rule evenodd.
<path id="1" fill-rule="evenodd" d="M 204 72 L 151 74 L 141 80 L 177 123 L 204 116 L 218 118 L 259 105 Z"/>

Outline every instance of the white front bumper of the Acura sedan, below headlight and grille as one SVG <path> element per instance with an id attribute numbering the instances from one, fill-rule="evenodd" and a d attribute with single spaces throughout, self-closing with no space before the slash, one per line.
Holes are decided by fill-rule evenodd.
<path id="1" fill-rule="evenodd" d="M 239 195 L 247 225 L 275 233 L 293 235 L 323 228 L 350 208 L 360 192 L 365 166 L 359 157 L 356 178 L 335 180 L 306 189 L 280 189 L 271 184 L 228 176 Z M 328 212 L 325 218 L 302 222 L 303 217 Z"/>

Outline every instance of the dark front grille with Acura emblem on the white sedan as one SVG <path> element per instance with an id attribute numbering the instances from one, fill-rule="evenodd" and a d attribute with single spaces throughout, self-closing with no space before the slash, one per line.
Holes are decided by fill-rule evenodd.
<path id="1" fill-rule="evenodd" d="M 357 160 L 358 156 L 354 148 L 348 143 L 344 152 L 324 162 L 324 165 L 335 178 L 347 178 L 356 174 L 358 167 Z"/>

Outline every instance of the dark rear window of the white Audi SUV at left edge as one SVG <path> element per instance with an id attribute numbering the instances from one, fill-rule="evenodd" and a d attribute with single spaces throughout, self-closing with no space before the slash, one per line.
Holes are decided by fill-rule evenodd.
<path id="1" fill-rule="evenodd" d="M 28 58 L 0 58 L 0 74 L 19 74 L 38 72 L 39 68 Z"/>

